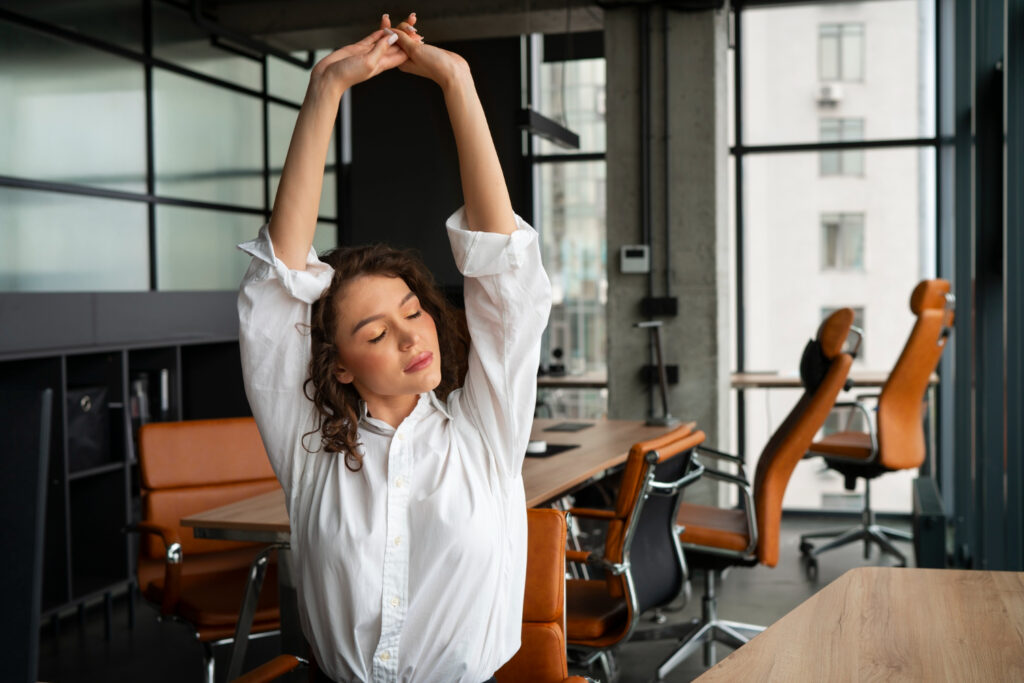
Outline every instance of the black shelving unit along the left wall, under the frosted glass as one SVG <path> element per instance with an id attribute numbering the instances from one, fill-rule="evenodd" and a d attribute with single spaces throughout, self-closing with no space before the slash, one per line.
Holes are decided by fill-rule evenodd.
<path id="1" fill-rule="evenodd" d="M 0 354 L 0 387 L 53 390 L 41 617 L 110 601 L 135 583 L 139 514 L 135 439 L 143 422 L 250 415 L 237 339 Z M 105 394 L 92 452 L 82 462 L 69 400 Z M 98 402 L 98 401 L 97 401 Z M 2 418 L 0 418 L 2 422 Z M 109 631 L 109 624 L 108 624 Z"/>

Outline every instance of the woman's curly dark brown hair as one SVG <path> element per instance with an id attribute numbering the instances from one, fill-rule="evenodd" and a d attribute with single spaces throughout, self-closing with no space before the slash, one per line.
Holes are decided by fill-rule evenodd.
<path id="1" fill-rule="evenodd" d="M 303 389 L 316 408 L 315 423 L 305 438 L 319 433 L 319 447 L 342 454 L 345 467 L 355 472 L 362 467 L 358 451 L 359 392 L 352 384 L 336 378 L 338 348 L 335 345 L 338 324 L 337 299 L 345 286 L 360 275 L 401 278 L 419 298 L 423 309 L 434 318 L 441 354 L 441 381 L 434 393 L 444 400 L 462 386 L 469 355 L 469 334 L 465 313 L 451 305 L 438 289 L 433 275 L 412 250 L 386 245 L 339 247 L 326 252 L 321 260 L 334 268 L 330 287 L 313 302 L 309 333 L 311 356 L 309 377 Z"/>

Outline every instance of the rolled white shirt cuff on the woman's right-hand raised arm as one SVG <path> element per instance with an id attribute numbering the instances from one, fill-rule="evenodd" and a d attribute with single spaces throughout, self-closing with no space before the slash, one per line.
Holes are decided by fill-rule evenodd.
<path id="1" fill-rule="evenodd" d="M 456 265 L 466 278 L 494 275 L 518 268 L 538 239 L 537 230 L 518 215 L 515 215 L 516 231 L 512 234 L 472 230 L 466 222 L 466 207 L 460 207 L 444 224 Z"/>

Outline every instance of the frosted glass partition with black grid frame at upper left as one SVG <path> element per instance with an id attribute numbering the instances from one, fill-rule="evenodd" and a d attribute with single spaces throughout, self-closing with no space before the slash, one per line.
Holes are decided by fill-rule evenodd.
<path id="1" fill-rule="evenodd" d="M 237 288 L 308 70 L 221 46 L 182 3 L 65 5 L 0 13 L 0 292 Z"/>

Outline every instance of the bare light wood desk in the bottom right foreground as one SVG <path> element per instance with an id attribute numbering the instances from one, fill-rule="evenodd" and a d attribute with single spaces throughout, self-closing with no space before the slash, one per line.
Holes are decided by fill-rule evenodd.
<path id="1" fill-rule="evenodd" d="M 851 569 L 698 681 L 1021 681 L 1024 573 Z"/>

